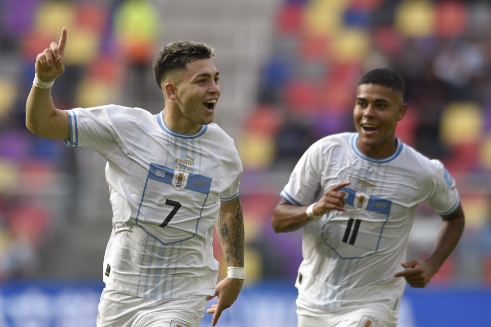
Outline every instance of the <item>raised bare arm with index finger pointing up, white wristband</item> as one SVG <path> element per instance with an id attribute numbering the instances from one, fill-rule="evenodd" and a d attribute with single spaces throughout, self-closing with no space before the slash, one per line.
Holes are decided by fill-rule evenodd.
<path id="1" fill-rule="evenodd" d="M 65 70 L 63 67 L 65 45 L 66 28 L 63 28 L 59 42 L 51 42 L 50 48 L 44 49 L 37 55 L 34 68 L 38 81 L 33 83 L 26 101 L 27 128 L 35 135 L 48 139 L 70 139 L 68 114 L 55 107 L 49 84 Z"/>

